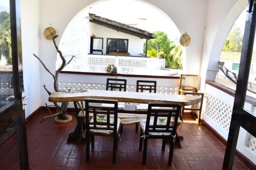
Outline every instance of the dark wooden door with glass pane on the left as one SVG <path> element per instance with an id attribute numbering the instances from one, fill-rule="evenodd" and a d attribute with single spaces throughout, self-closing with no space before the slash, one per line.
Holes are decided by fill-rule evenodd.
<path id="1" fill-rule="evenodd" d="M 29 169 L 19 0 L 0 5 L 0 142 L 17 130 L 20 169 Z"/>

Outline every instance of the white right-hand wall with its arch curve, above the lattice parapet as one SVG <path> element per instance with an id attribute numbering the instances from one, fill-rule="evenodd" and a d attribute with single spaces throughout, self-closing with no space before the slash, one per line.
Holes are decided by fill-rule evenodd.
<path id="1" fill-rule="evenodd" d="M 215 81 L 218 61 L 227 35 L 247 2 L 247 0 L 208 1 L 200 70 L 201 90 L 204 90 L 205 80 Z"/>

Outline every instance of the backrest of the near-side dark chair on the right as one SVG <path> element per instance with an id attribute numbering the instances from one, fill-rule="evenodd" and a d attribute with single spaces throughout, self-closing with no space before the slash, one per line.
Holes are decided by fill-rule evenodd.
<path id="1" fill-rule="evenodd" d="M 152 132 L 170 133 L 170 135 L 174 136 L 176 134 L 180 107 L 180 105 L 172 104 L 148 104 L 145 136 Z"/>

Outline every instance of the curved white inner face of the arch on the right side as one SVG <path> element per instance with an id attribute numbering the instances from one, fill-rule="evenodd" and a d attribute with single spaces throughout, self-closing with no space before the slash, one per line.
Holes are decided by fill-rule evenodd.
<path id="1" fill-rule="evenodd" d="M 206 80 L 215 81 L 217 76 L 217 71 L 219 70 L 218 61 L 221 57 L 221 51 L 225 41 L 227 39 L 228 33 L 231 30 L 234 22 L 246 8 L 248 1 L 239 0 L 230 9 L 226 17 L 224 18 L 218 32 L 215 36 L 214 42 L 210 50 L 208 67 L 206 72 Z M 203 70 L 201 70 L 202 72 Z"/>

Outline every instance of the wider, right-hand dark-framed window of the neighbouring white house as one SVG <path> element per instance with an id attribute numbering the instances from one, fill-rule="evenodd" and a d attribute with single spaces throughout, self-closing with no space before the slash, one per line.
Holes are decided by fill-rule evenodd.
<path id="1" fill-rule="evenodd" d="M 129 39 L 107 38 L 106 39 L 106 54 L 110 52 L 128 52 Z"/>

